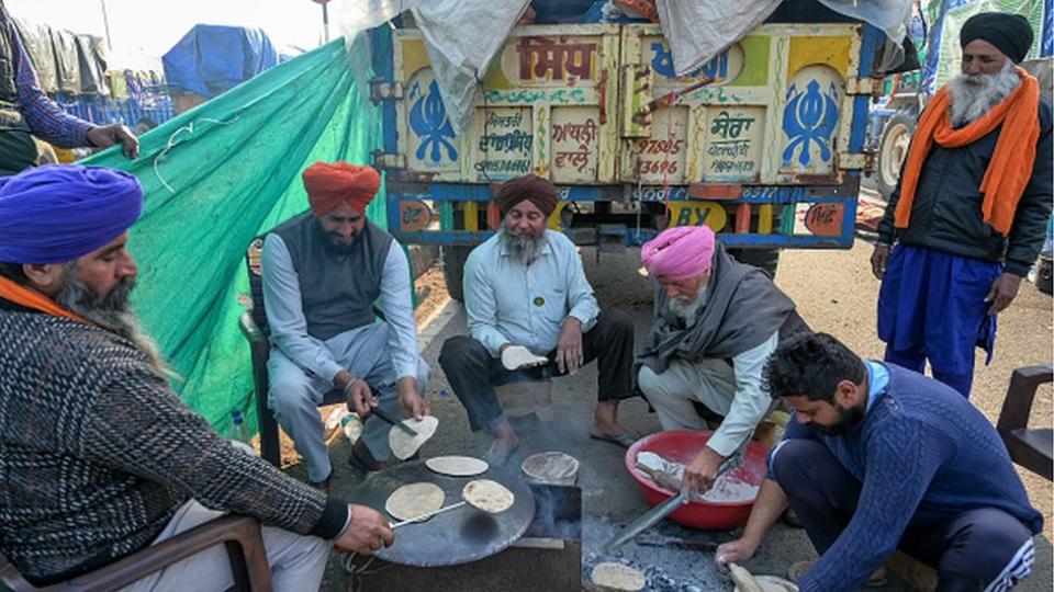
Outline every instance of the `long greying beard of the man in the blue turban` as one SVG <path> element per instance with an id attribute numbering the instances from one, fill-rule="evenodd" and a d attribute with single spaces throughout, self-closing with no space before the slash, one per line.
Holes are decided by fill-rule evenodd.
<path id="1" fill-rule="evenodd" d="M 110 294 L 100 297 L 77 277 L 77 264 L 72 262 L 66 266 L 66 277 L 61 289 L 55 296 L 55 303 L 76 312 L 85 320 L 131 341 L 146 355 L 150 365 L 161 377 L 177 377 L 161 356 L 157 342 L 143 331 L 139 318 L 132 309 L 130 296 L 134 287 L 135 282 L 122 280 L 110 291 Z"/>

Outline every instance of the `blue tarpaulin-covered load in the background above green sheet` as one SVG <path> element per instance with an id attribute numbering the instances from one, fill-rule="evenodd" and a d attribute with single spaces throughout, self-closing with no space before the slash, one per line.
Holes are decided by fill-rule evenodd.
<path id="1" fill-rule="evenodd" d="M 259 29 L 201 24 L 161 61 L 169 84 L 211 99 L 276 66 L 278 52 Z"/>

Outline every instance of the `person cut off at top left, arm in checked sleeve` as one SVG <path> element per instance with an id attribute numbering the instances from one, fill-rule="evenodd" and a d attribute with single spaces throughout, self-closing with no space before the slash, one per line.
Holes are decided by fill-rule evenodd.
<path id="1" fill-rule="evenodd" d="M 108 148 L 123 145 L 136 158 L 139 143 L 120 124 L 97 126 L 75 117 L 44 94 L 22 37 L 0 0 L 0 177 L 35 167 L 38 151 L 32 136 L 60 148 Z"/>

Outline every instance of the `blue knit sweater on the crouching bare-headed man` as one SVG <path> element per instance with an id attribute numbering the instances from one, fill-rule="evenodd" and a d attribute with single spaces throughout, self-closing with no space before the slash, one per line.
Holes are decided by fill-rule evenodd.
<path id="1" fill-rule="evenodd" d="M 863 482 L 856 513 L 801 576 L 801 592 L 859 589 L 909 524 L 926 527 L 966 510 L 997 508 L 1033 534 L 1043 528 L 988 419 L 951 387 L 886 367 L 885 392 L 846 434 L 823 435 L 796 420 L 787 425 L 785 440 L 822 442 Z"/>

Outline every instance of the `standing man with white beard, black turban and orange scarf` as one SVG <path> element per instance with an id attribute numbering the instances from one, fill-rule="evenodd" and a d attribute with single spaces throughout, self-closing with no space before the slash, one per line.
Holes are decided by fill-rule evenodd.
<path id="1" fill-rule="evenodd" d="M 871 258 L 885 361 L 969 396 L 974 350 L 991 360 L 996 316 L 1043 244 L 1054 195 L 1051 104 L 1016 66 L 1023 16 L 986 12 L 960 32 L 962 72 L 927 105 Z M 896 243 L 896 244 L 894 244 Z"/>

